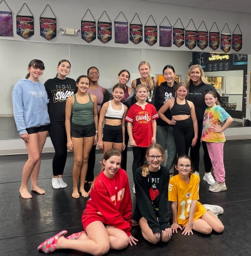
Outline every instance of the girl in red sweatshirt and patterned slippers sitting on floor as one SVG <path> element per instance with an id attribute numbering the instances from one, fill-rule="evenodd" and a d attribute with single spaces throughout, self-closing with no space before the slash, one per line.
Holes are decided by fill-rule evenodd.
<path id="1" fill-rule="evenodd" d="M 92 255 L 104 255 L 109 249 L 120 250 L 137 239 L 132 237 L 132 199 L 126 172 L 120 169 L 121 153 L 112 148 L 102 160 L 105 168 L 93 181 L 90 199 L 83 211 L 85 231 L 65 238 L 66 230 L 41 243 L 45 253 L 72 249 Z"/>

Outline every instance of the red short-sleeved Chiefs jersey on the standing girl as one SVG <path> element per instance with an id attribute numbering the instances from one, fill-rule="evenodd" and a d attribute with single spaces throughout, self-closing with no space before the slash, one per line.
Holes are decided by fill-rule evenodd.
<path id="1" fill-rule="evenodd" d="M 149 147 L 152 143 L 152 120 L 159 118 L 156 108 L 147 103 L 145 109 L 137 103 L 127 113 L 125 121 L 132 123 L 132 136 L 137 147 Z"/>

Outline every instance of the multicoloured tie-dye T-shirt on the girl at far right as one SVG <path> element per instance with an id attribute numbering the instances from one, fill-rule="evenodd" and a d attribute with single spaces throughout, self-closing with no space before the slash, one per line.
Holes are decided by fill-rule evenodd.
<path id="1" fill-rule="evenodd" d="M 224 133 L 213 133 L 211 126 L 222 126 L 230 115 L 221 106 L 215 105 L 211 108 L 206 108 L 203 118 L 203 130 L 201 140 L 203 142 L 225 142 Z"/>

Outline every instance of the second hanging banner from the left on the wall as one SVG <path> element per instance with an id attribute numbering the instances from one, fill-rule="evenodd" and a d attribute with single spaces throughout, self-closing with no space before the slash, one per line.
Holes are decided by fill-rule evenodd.
<path id="1" fill-rule="evenodd" d="M 34 35 L 34 18 L 33 16 L 16 16 L 16 33 L 17 35 L 28 39 Z"/>

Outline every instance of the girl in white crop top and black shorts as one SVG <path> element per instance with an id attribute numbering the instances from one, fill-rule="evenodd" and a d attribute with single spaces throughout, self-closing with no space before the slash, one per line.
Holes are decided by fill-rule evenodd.
<path id="1" fill-rule="evenodd" d="M 98 126 L 98 147 L 103 150 L 104 155 L 110 148 L 117 148 L 120 152 L 125 148 L 127 106 L 121 103 L 124 96 L 124 86 L 116 84 L 112 88 L 112 99 L 104 103 L 101 108 Z"/>

